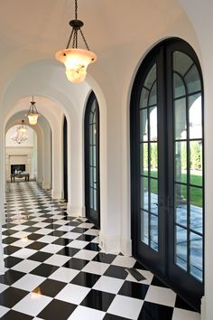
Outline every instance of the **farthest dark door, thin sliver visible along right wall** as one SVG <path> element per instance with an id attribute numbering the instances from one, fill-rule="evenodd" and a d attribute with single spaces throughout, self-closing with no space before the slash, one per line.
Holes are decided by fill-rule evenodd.
<path id="1" fill-rule="evenodd" d="M 63 120 L 63 192 L 64 200 L 68 202 L 68 122 Z"/>

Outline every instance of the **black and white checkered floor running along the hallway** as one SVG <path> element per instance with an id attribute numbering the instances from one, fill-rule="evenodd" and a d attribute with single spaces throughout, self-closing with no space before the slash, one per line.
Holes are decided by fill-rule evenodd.
<path id="1" fill-rule="evenodd" d="M 98 231 L 35 182 L 7 184 L 0 317 L 10 320 L 199 320 L 132 257 L 104 254 Z M 137 282 L 125 268 L 146 278 Z"/>

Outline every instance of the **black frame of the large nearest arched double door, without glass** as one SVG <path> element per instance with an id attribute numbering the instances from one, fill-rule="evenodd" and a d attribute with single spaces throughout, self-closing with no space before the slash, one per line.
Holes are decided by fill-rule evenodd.
<path id="1" fill-rule="evenodd" d="M 176 44 L 175 44 L 176 43 Z M 162 279 L 162 282 L 166 283 L 174 289 L 182 298 L 187 300 L 191 306 L 195 307 L 197 310 L 200 308 L 200 298 L 203 296 L 203 287 L 204 287 L 204 280 L 202 283 L 200 283 L 200 286 L 194 286 L 193 282 L 190 281 L 188 275 L 188 281 L 186 282 L 186 278 L 182 278 L 182 272 L 180 272 L 180 268 L 175 266 L 175 269 L 177 272 L 175 272 L 174 275 L 174 281 L 171 281 L 171 269 L 168 266 L 168 260 L 169 257 L 173 257 L 173 250 L 174 247 L 171 249 L 168 248 L 166 245 L 168 241 L 171 239 L 174 239 L 173 230 L 172 232 L 169 231 L 169 226 L 174 225 L 174 215 L 172 214 L 172 197 L 171 197 L 171 190 L 173 188 L 173 182 L 169 184 L 169 180 L 167 180 L 167 177 L 160 175 L 159 180 L 159 225 L 158 225 L 158 231 L 160 231 L 162 228 L 164 229 L 164 233 L 160 234 L 159 238 L 159 248 L 161 251 L 161 247 L 164 247 L 164 249 L 160 252 L 160 256 L 158 257 L 158 261 L 156 258 L 156 255 L 158 255 L 158 252 L 148 252 L 147 248 L 145 248 L 145 245 L 143 247 L 143 255 L 144 257 L 149 256 L 149 259 L 146 259 L 146 261 L 142 260 L 140 258 L 140 249 L 137 246 L 137 241 L 139 238 L 139 223 L 137 221 L 137 211 L 139 208 L 140 203 L 140 194 L 138 193 L 138 190 L 140 190 L 139 186 L 139 179 L 137 178 L 140 176 L 140 152 L 139 152 L 139 143 L 138 143 L 138 127 L 140 124 L 140 118 L 139 114 L 136 113 L 135 108 L 138 106 L 138 102 L 140 99 L 140 93 L 141 88 L 144 82 L 144 78 L 147 75 L 148 70 L 150 70 L 152 66 L 152 61 L 156 61 L 157 59 L 161 60 L 161 63 L 158 65 L 158 75 L 161 76 L 161 78 L 158 78 L 159 82 L 164 83 L 165 80 L 168 83 L 169 89 L 167 89 L 167 93 L 160 91 L 158 89 L 158 97 L 160 97 L 161 103 L 158 104 L 158 123 L 160 124 L 160 128 L 158 128 L 158 135 L 159 135 L 159 150 L 162 150 L 162 157 L 159 157 L 159 171 L 163 170 L 165 173 L 166 170 L 169 168 L 169 174 L 173 174 L 173 153 L 172 150 L 170 152 L 170 155 L 165 156 L 168 152 L 167 147 L 172 146 L 172 134 L 168 135 L 168 132 L 172 132 L 172 108 L 170 110 L 162 110 L 164 108 L 163 105 L 169 105 L 172 101 L 171 95 L 168 93 L 169 91 L 172 92 L 170 89 L 172 88 L 172 79 L 171 74 L 169 74 L 168 68 L 171 70 L 171 61 L 168 59 L 165 59 L 165 57 L 168 57 L 168 52 L 165 52 L 168 50 L 168 47 L 173 46 L 175 48 L 175 45 L 177 47 L 178 51 L 183 50 L 183 52 L 186 52 L 189 54 L 190 52 L 190 58 L 192 58 L 196 62 L 196 66 L 199 70 L 199 76 L 202 86 L 202 92 L 203 92 L 203 82 L 202 82 L 202 72 L 199 65 L 199 60 L 197 58 L 196 53 L 193 51 L 193 49 L 190 47 L 190 44 L 187 42 L 182 41 L 178 38 L 172 38 L 169 40 L 166 40 L 164 42 L 159 43 L 157 46 L 153 48 L 151 52 L 147 54 L 147 56 L 144 58 L 144 61 L 142 62 L 139 70 L 136 73 L 135 79 L 134 79 L 134 85 L 132 89 L 132 95 L 131 95 L 131 103 L 130 103 L 130 145 L 131 145 L 131 234 L 132 234 L 132 243 L 133 243 L 133 255 L 136 259 L 139 260 L 139 262 L 143 263 L 144 266 L 148 269 L 150 269 L 158 278 Z M 166 49 L 167 48 L 167 49 Z M 165 70 L 167 72 L 165 73 Z M 202 103 L 203 103 L 203 94 L 202 94 Z M 202 104 L 203 105 L 203 104 Z M 163 111 L 163 112 L 161 112 Z M 166 112 L 166 117 L 165 117 Z M 203 116 L 203 108 L 202 108 L 202 116 Z M 204 117 L 202 117 L 204 118 Z M 202 123 L 203 127 L 203 134 L 204 134 L 204 123 Z M 135 134 L 137 133 L 137 136 Z M 204 135 L 203 135 L 204 138 Z M 203 148 L 203 158 L 204 158 L 204 148 Z M 172 179 L 171 179 L 172 180 Z M 172 184 L 172 185 L 171 185 Z M 203 185 L 204 185 L 204 170 L 203 170 Z M 204 190 L 204 187 L 203 187 Z M 203 201 L 203 210 L 204 210 L 204 201 Z M 161 214 L 161 212 L 164 212 Z M 203 219 L 203 225 L 204 225 L 204 219 Z M 203 227 L 204 230 L 204 227 Z M 203 233 L 203 239 L 204 239 Z M 204 242 L 204 241 L 203 241 Z M 173 265 L 174 262 L 173 262 Z M 203 266 L 204 266 L 204 243 L 203 243 Z M 178 270 L 179 269 L 179 270 Z M 204 272 L 204 268 L 203 268 Z M 203 277 L 204 278 L 204 277 Z M 177 283 L 179 284 L 177 286 Z M 192 287 L 192 290 L 188 291 L 188 288 L 186 288 L 186 292 L 184 293 L 182 291 L 183 287 Z M 193 295 L 193 290 L 199 290 L 199 298 L 196 295 Z"/>

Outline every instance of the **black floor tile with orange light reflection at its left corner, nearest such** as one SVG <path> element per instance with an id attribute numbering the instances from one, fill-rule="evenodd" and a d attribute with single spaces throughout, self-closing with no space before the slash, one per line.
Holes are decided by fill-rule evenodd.
<path id="1" fill-rule="evenodd" d="M 63 287 L 66 286 L 66 283 L 52 280 L 52 279 L 46 279 L 42 282 L 42 284 L 39 287 L 36 287 L 33 292 L 37 293 L 38 290 L 41 292 L 43 296 L 57 296 L 60 290 L 62 290 Z"/>

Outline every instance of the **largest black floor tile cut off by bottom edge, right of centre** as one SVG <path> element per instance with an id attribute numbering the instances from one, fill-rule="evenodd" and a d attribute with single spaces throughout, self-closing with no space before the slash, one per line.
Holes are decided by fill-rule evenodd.
<path id="1" fill-rule="evenodd" d="M 173 308 L 162 306 L 151 302 L 144 302 L 138 320 L 171 320 Z"/>

